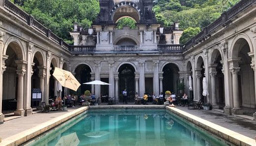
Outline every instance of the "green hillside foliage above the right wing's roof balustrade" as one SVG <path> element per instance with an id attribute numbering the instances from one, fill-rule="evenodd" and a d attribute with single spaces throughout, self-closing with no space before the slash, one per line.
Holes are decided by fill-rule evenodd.
<path id="1" fill-rule="evenodd" d="M 157 20 L 165 27 L 180 22 L 184 30 L 180 42 L 186 43 L 204 27 L 240 0 L 154 0 Z"/>

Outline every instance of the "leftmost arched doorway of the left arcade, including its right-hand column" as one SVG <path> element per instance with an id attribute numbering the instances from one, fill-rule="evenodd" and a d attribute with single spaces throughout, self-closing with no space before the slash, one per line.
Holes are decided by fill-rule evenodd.
<path id="1" fill-rule="evenodd" d="M 6 49 L 5 71 L 2 81 L 2 113 L 9 112 L 24 116 L 23 91 L 26 63 L 23 61 L 22 48 L 17 42 L 11 42 Z M 7 113 L 6 113 L 7 112 Z"/>

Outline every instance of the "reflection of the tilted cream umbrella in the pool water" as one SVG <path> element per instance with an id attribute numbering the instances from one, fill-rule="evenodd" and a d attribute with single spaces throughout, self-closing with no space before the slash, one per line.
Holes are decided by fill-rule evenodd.
<path id="1" fill-rule="evenodd" d="M 79 143 L 80 141 L 76 133 L 74 132 L 74 133 L 62 136 L 55 146 L 78 146 Z"/>

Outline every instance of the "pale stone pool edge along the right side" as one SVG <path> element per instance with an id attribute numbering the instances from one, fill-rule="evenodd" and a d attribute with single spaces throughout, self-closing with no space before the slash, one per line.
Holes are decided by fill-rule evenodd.
<path id="1" fill-rule="evenodd" d="M 222 127 L 220 125 L 217 125 L 215 123 L 212 123 L 208 120 L 202 119 L 200 117 L 196 117 L 192 114 L 189 114 L 187 112 L 184 112 L 184 111 L 179 110 L 179 109 L 174 108 L 174 107 L 167 107 L 166 106 L 166 110 L 168 110 L 168 111 L 176 114 L 177 116 L 182 117 L 182 118 L 196 124 L 199 127 L 202 127 L 204 129 L 206 129 L 209 132 L 212 132 L 212 133 L 220 136 L 224 140 L 227 140 L 229 142 L 234 143 L 235 145 L 238 145 L 238 146 L 256 146 L 256 141 L 254 139 L 251 139 L 251 138 L 246 137 L 242 134 L 239 134 L 237 132 L 234 132 L 232 130 L 224 128 L 224 127 Z"/>

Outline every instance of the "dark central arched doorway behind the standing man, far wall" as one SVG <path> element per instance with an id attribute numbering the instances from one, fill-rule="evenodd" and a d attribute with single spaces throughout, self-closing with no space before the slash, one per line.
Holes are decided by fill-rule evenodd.
<path id="1" fill-rule="evenodd" d="M 118 72 L 120 102 L 123 102 L 122 92 L 124 89 L 127 90 L 127 101 L 134 102 L 133 97 L 135 95 L 135 69 L 130 64 L 123 64 L 119 67 Z"/>

